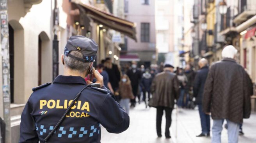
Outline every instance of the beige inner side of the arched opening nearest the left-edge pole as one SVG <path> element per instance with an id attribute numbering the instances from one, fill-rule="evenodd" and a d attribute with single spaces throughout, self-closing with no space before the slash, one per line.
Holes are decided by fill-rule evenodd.
<path id="1" fill-rule="evenodd" d="M 9 24 L 14 30 L 14 103 L 25 103 L 24 30 L 16 20 Z"/>

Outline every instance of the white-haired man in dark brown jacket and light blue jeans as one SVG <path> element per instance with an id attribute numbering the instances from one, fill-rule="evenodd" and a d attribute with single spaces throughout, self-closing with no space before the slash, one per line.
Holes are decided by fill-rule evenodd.
<path id="1" fill-rule="evenodd" d="M 204 85 L 203 112 L 212 113 L 212 143 L 221 142 L 224 119 L 228 124 L 228 142 L 238 143 L 239 124 L 251 113 L 252 84 L 244 68 L 235 61 L 237 50 L 224 47 L 222 60 L 213 64 Z"/>

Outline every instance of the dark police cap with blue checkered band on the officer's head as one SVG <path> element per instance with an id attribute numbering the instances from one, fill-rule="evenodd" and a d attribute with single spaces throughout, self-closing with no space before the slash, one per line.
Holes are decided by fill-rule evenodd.
<path id="1" fill-rule="evenodd" d="M 79 51 L 83 54 L 83 58 L 78 58 L 69 54 L 71 51 Z M 98 51 L 98 44 L 90 38 L 84 36 L 71 36 L 64 49 L 64 54 L 70 58 L 82 62 L 93 62 Z"/>

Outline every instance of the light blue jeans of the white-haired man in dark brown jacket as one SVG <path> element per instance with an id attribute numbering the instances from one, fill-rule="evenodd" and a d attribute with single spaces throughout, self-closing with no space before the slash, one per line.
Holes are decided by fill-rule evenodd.
<path id="1" fill-rule="evenodd" d="M 226 119 L 227 120 L 227 119 Z M 213 120 L 212 143 L 221 143 L 221 131 L 224 119 Z M 227 120 L 228 143 L 238 143 L 239 124 Z"/>

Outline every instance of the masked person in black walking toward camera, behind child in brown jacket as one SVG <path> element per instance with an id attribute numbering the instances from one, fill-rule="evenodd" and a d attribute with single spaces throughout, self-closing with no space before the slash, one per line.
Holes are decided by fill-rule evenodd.
<path id="1" fill-rule="evenodd" d="M 137 69 L 137 62 L 136 61 L 132 61 L 132 68 L 130 70 L 127 71 L 126 75 L 128 75 L 128 77 L 131 80 L 131 84 L 132 84 L 132 92 L 133 95 L 138 97 L 139 99 L 139 103 L 140 103 L 140 94 L 139 94 L 139 85 L 140 85 L 140 79 L 141 79 L 141 72 L 140 70 Z M 136 99 L 131 99 L 131 107 L 135 107 L 136 104 Z"/>

